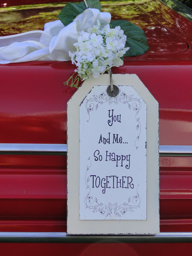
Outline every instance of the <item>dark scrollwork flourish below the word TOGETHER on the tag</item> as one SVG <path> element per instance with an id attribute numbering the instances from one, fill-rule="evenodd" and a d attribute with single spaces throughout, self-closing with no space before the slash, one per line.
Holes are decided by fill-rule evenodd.
<path id="1" fill-rule="evenodd" d="M 137 186 L 137 194 L 135 196 L 132 196 L 128 198 L 127 202 L 124 202 L 123 204 L 119 204 L 118 202 L 115 202 L 114 204 L 108 203 L 108 205 L 103 204 L 102 202 L 98 202 L 98 199 L 93 196 L 91 196 L 91 188 L 88 182 L 90 181 L 90 176 L 87 176 L 87 172 L 91 167 L 91 159 L 88 158 L 90 161 L 90 165 L 87 166 L 86 174 L 85 174 L 85 184 L 86 189 L 88 190 L 88 193 L 85 197 L 84 203 L 86 208 L 89 208 L 89 210 L 92 210 L 93 213 L 99 212 L 102 215 L 105 215 L 105 217 L 121 217 L 122 215 L 126 214 L 126 212 L 134 212 L 134 210 L 138 207 L 140 207 L 141 198 L 138 193 L 138 186 Z"/>

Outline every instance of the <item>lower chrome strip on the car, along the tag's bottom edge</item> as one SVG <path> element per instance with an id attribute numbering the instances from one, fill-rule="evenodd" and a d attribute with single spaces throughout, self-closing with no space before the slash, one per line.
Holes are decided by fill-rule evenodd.
<path id="1" fill-rule="evenodd" d="M 66 232 L 0 232 L 0 242 L 28 243 L 164 243 L 192 242 L 191 232 L 146 236 L 68 236 Z"/>

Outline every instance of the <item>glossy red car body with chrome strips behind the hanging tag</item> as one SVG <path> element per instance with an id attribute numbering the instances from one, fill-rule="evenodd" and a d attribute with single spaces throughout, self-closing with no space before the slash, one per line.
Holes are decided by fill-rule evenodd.
<path id="1" fill-rule="evenodd" d="M 66 103 L 76 89 L 63 82 L 75 67 L 54 61 L 7 64 L 0 66 L 1 255 L 166 256 L 192 249 L 192 22 L 159 0 L 129 7 L 129 21 L 144 30 L 150 50 L 126 57 L 112 72 L 137 74 L 159 102 L 161 234 L 66 236 L 66 152 L 54 146 L 67 143 Z"/>

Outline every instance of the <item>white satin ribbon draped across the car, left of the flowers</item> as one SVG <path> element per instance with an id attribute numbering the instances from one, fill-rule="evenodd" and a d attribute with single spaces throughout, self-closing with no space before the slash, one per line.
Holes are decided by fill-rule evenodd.
<path id="1" fill-rule="evenodd" d="M 44 31 L 30 31 L 12 36 L 0 37 L 0 64 L 26 62 L 31 60 L 70 60 L 68 52 L 74 52 L 73 46 L 81 30 L 100 23 L 108 24 L 111 14 L 97 9 L 86 9 L 72 23 L 64 26 L 60 20 L 46 23 Z"/>

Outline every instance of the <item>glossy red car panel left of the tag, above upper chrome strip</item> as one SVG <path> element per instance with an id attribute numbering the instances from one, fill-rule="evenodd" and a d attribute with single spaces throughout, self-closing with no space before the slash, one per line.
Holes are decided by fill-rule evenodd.
<path id="1" fill-rule="evenodd" d="M 73 73 L 73 66 L 69 62 L 37 61 L 0 68 L 4 74 L 0 141 L 66 143 L 66 102 L 76 89 L 63 82 Z"/>

